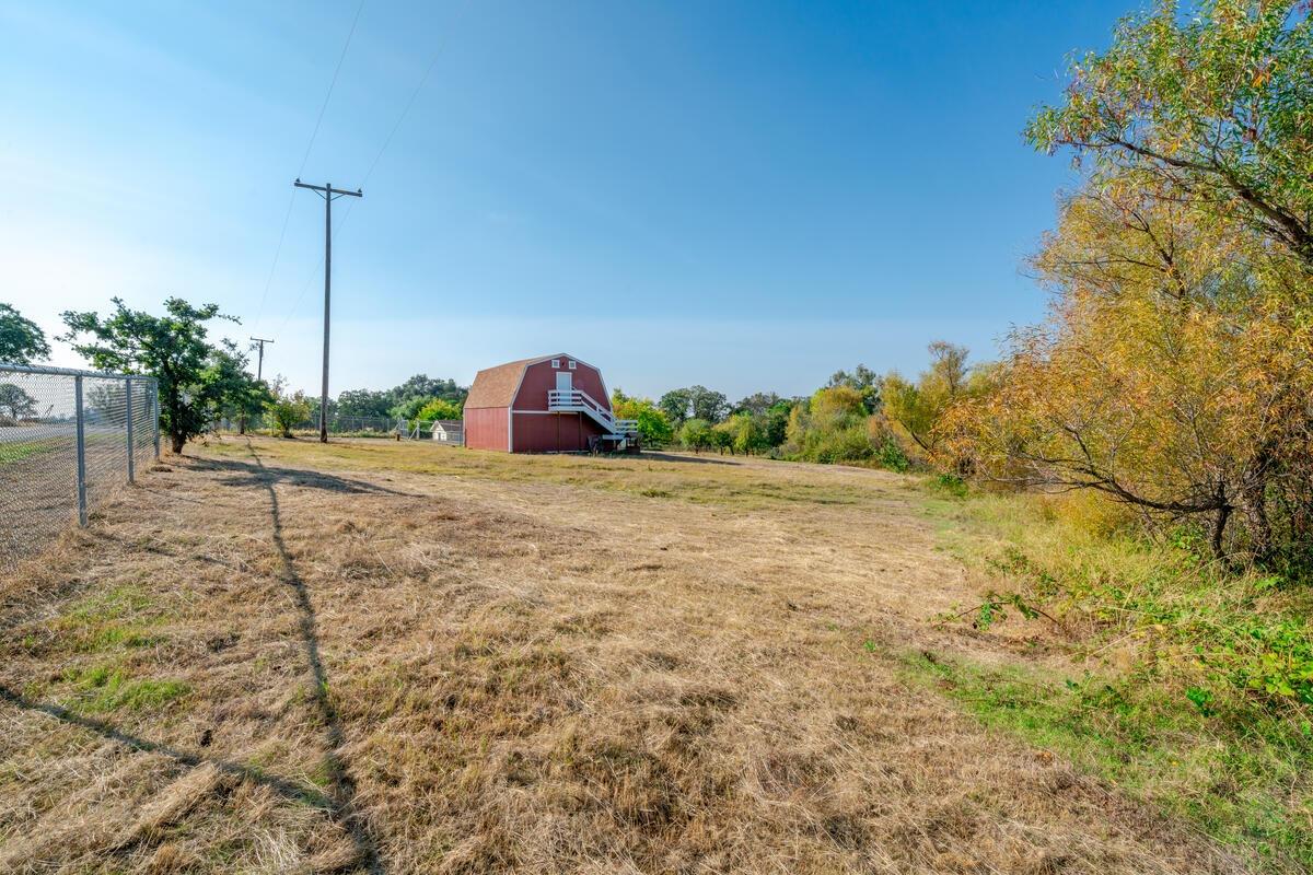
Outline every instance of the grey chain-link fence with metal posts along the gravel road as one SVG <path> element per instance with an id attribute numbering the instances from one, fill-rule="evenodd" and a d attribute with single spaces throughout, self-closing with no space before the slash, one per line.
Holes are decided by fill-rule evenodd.
<path id="1" fill-rule="evenodd" d="M 39 550 L 159 457 L 151 376 L 0 363 L 0 567 Z"/>

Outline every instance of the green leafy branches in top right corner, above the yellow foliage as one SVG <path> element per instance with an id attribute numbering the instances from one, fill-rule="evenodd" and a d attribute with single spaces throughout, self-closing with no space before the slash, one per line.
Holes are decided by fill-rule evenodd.
<path id="1" fill-rule="evenodd" d="M 1221 213 L 1313 268 L 1313 18 L 1302 0 L 1161 1 L 1071 63 L 1025 129 L 1109 184 Z"/>

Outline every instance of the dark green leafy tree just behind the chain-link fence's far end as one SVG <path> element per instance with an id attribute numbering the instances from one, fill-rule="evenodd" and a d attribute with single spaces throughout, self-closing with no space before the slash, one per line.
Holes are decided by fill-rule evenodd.
<path id="1" fill-rule="evenodd" d="M 165 300 L 163 316 L 129 310 L 121 298 L 113 303 L 114 312 L 105 317 L 66 311 L 68 333 L 63 340 L 93 367 L 155 376 L 160 425 L 173 453 L 181 453 L 188 439 L 205 429 L 213 405 L 222 397 L 222 388 L 207 374 L 217 349 L 206 341 L 205 324 L 236 319 L 221 315 L 218 304 L 193 307 L 181 298 Z"/>

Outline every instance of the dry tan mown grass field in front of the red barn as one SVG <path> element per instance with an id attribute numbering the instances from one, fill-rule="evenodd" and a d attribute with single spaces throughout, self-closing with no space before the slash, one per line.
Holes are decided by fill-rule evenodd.
<path id="1" fill-rule="evenodd" d="M 905 680 L 1044 651 L 910 478 L 188 453 L 0 580 L 0 871 L 1246 870 Z"/>

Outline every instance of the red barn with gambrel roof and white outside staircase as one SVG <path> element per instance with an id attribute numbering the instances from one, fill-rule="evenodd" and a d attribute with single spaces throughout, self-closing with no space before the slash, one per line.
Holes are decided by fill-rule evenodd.
<path id="1" fill-rule="evenodd" d="M 465 399 L 465 446 L 475 450 L 634 450 L 634 429 L 612 415 L 601 371 L 565 353 L 482 370 Z"/>

